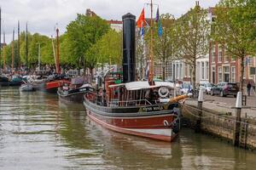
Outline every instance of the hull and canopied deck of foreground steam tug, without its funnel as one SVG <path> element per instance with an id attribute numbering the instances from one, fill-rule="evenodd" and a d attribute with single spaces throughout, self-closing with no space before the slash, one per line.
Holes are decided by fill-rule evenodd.
<path id="1" fill-rule="evenodd" d="M 188 96 L 183 95 L 174 99 L 160 98 L 162 94 L 155 92 L 160 91 L 161 88 L 167 88 L 166 86 L 148 84 L 146 87 L 131 88 L 135 84 L 137 86 L 148 84 L 148 82 L 110 85 L 109 88 L 118 87 L 122 90 L 116 94 L 116 97 L 113 97 L 115 90 L 109 89 L 112 95 L 109 99 L 101 98 L 101 95 L 93 92 L 85 94 L 84 106 L 87 116 L 103 127 L 119 133 L 171 142 L 179 130 L 180 113 L 177 101 Z M 154 97 L 146 99 L 143 95 L 154 95 Z M 120 98 L 125 100 L 120 100 Z"/>

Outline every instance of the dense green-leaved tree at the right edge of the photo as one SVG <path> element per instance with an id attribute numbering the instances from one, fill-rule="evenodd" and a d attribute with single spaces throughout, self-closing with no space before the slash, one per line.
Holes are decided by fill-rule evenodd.
<path id="1" fill-rule="evenodd" d="M 222 43 L 230 56 L 240 59 L 240 91 L 243 91 L 245 57 L 255 50 L 255 2 L 222 0 L 212 24 L 212 38 Z M 253 19 L 254 15 L 254 19 Z M 255 54 L 255 51 L 254 51 Z"/>

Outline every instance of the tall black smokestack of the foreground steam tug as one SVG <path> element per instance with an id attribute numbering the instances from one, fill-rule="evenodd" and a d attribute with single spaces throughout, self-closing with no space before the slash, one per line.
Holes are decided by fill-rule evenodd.
<path id="1" fill-rule="evenodd" d="M 135 23 L 136 16 L 125 14 L 123 17 L 123 82 L 136 80 L 135 60 Z"/>

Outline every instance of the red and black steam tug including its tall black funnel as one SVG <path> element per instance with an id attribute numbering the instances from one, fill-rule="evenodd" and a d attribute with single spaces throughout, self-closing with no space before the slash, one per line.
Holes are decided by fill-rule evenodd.
<path id="1" fill-rule="evenodd" d="M 123 16 L 123 28 L 123 75 L 108 70 L 96 78 L 96 91 L 84 95 L 87 116 L 115 132 L 171 142 L 179 130 L 178 102 L 189 96 L 174 97 L 174 83 L 154 82 L 152 74 L 136 80 L 134 15 Z"/>

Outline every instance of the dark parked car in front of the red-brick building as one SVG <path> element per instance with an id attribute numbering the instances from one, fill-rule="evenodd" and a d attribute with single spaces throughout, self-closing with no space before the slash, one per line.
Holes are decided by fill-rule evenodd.
<path id="1" fill-rule="evenodd" d="M 236 83 L 231 82 L 218 82 L 218 84 L 212 87 L 211 95 L 218 94 L 221 97 L 225 97 L 227 95 L 234 95 L 236 97 L 239 88 Z"/>

